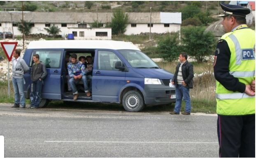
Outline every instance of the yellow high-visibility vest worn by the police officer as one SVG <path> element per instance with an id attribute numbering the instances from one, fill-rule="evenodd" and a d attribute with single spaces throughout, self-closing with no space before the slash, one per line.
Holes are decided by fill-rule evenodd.
<path id="1" fill-rule="evenodd" d="M 221 39 L 230 49 L 229 73 L 241 83 L 250 85 L 255 80 L 255 31 L 240 25 Z M 217 113 L 220 115 L 255 114 L 255 96 L 227 90 L 216 81 Z"/>

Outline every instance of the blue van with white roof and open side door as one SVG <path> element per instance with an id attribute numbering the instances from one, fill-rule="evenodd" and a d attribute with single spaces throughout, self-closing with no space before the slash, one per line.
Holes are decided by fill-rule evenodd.
<path id="1" fill-rule="evenodd" d="M 67 54 L 92 56 L 92 96 L 79 93 L 76 101 L 67 90 Z M 23 59 L 30 67 L 33 54 L 47 66 L 40 107 L 51 100 L 123 104 L 126 111 L 141 111 L 144 106 L 175 102 L 175 88 L 169 83 L 173 74 L 159 68 L 139 48 L 129 42 L 109 40 L 31 41 Z M 24 74 L 26 98 L 30 95 L 30 72 Z M 78 85 L 79 86 L 79 85 Z M 82 86 L 80 86 L 81 88 Z M 73 103 L 74 103 L 73 102 Z"/>

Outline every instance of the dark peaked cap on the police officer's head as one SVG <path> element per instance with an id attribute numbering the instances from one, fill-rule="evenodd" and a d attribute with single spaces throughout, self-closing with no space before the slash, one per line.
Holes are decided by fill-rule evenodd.
<path id="1" fill-rule="evenodd" d="M 225 3 L 221 3 L 221 8 L 224 11 L 223 11 L 223 14 L 219 15 L 218 17 L 233 15 L 233 16 L 241 16 L 245 18 L 247 14 L 251 13 L 250 9 L 240 7 L 238 5 L 228 5 Z"/>

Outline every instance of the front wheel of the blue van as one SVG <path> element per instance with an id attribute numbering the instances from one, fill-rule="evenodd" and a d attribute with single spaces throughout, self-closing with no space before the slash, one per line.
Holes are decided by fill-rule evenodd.
<path id="1" fill-rule="evenodd" d="M 130 90 L 123 95 L 122 104 L 129 112 L 141 111 L 145 106 L 142 95 L 135 90 Z"/>

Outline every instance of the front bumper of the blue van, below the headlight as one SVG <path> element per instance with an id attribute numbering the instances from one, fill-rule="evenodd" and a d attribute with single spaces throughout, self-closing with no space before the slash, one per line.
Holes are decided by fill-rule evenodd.
<path id="1" fill-rule="evenodd" d="M 163 105 L 176 102 L 171 99 L 171 95 L 175 95 L 175 88 L 165 85 L 147 85 L 144 87 L 144 101 L 148 105 Z"/>

